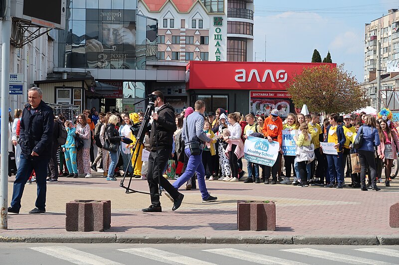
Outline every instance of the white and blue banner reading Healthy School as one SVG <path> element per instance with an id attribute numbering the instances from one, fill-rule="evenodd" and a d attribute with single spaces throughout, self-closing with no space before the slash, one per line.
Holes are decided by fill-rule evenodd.
<path id="1" fill-rule="evenodd" d="M 277 160 L 280 145 L 267 139 L 248 136 L 244 145 L 244 156 L 252 163 L 272 167 Z"/>

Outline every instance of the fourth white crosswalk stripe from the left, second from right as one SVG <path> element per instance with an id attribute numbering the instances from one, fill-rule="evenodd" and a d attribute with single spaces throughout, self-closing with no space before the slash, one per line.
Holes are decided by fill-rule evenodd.
<path id="1" fill-rule="evenodd" d="M 360 258 L 360 257 L 356 257 L 356 256 L 350 256 L 350 255 L 345 255 L 345 254 L 339 254 L 339 253 L 333 253 L 333 252 L 315 250 L 315 249 L 309 249 L 309 248 L 286 249 L 286 250 L 282 250 L 282 251 L 306 255 L 306 256 L 310 256 L 310 257 L 314 257 L 314 258 L 326 259 L 326 260 L 335 261 L 335 262 L 350 263 L 350 264 L 392 265 L 392 263 L 380 262 L 380 261 L 364 259 L 364 258 Z"/>

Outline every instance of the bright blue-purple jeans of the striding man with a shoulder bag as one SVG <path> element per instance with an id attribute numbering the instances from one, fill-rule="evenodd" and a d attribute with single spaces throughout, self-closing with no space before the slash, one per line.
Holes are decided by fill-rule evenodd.
<path id="1" fill-rule="evenodd" d="M 202 151 L 197 156 L 191 155 L 190 148 L 186 148 L 184 151 L 189 157 L 189 163 L 187 164 L 186 171 L 183 173 L 183 175 L 180 176 L 172 185 L 175 188 L 179 188 L 186 183 L 187 180 L 193 177 L 194 173 L 197 172 L 198 186 L 200 187 L 201 197 L 202 199 L 206 199 L 209 197 L 209 192 L 206 189 L 205 184 L 205 169 L 203 168 L 202 164 Z"/>

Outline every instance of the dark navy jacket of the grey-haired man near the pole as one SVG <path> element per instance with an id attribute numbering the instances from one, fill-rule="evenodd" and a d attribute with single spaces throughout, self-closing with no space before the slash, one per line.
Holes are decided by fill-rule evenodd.
<path id="1" fill-rule="evenodd" d="M 39 156 L 50 156 L 53 140 L 53 109 L 42 100 L 36 112 L 30 113 L 30 104 L 26 104 L 20 122 L 18 143 L 22 154 L 29 157 L 32 151 Z"/>

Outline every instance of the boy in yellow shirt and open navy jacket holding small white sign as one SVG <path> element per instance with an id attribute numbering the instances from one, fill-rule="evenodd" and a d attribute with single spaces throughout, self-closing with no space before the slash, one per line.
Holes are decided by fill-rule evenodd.
<path id="1" fill-rule="evenodd" d="M 334 143 L 334 148 L 337 149 L 338 155 L 326 154 L 331 182 L 325 187 L 334 187 L 335 180 L 337 179 L 337 188 L 342 188 L 342 184 L 344 182 L 344 169 L 342 168 L 342 159 L 346 138 L 342 125 L 338 125 L 338 114 L 332 113 L 328 116 L 328 119 L 330 125 L 327 127 L 327 137 L 324 142 Z"/>

